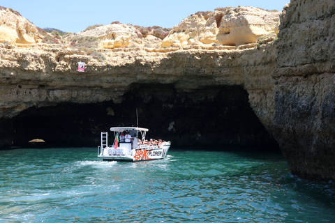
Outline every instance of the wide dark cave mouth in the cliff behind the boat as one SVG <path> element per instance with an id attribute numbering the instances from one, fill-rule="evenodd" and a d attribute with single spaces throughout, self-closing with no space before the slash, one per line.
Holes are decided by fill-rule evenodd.
<path id="1" fill-rule="evenodd" d="M 61 103 L 32 107 L 13 118 L 14 146 L 43 139 L 45 146 L 98 146 L 100 133 L 112 126 L 149 128 L 148 136 L 173 146 L 270 146 L 269 135 L 241 86 L 178 92 L 170 84 L 133 84 L 120 104 Z M 213 146 L 211 146 L 213 147 Z"/>

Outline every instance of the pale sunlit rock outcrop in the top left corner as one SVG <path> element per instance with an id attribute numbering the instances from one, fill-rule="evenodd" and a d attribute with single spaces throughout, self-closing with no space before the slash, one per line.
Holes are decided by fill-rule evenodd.
<path id="1" fill-rule="evenodd" d="M 9 8 L 0 8 L 0 40 L 14 43 L 39 43 L 41 37 L 36 26 L 26 18 L 15 15 Z"/>

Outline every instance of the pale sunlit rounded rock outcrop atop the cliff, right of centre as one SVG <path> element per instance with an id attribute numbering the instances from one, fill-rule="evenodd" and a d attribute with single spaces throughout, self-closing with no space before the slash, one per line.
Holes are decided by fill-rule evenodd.
<path id="1" fill-rule="evenodd" d="M 217 8 L 214 13 L 199 12 L 174 26 L 162 47 L 221 44 L 245 45 L 275 32 L 279 12 L 253 7 Z"/>

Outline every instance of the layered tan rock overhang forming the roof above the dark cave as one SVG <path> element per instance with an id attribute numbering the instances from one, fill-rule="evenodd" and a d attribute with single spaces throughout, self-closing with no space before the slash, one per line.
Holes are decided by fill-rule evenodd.
<path id="1" fill-rule="evenodd" d="M 263 47 L 271 48 L 270 45 Z M 246 105 L 248 100 L 254 98 L 257 98 L 258 105 L 271 105 L 271 103 L 262 102 L 272 100 L 273 97 L 267 97 L 268 92 L 264 94 L 264 91 L 253 91 L 259 89 L 258 85 L 260 81 L 263 82 L 262 79 L 267 82 L 271 76 L 269 75 L 271 68 L 267 68 L 267 73 L 264 73 L 265 67 L 262 67 L 260 72 L 255 74 L 258 76 L 257 82 L 247 77 L 248 69 L 257 72 L 255 63 L 264 63 L 260 54 L 262 51 L 256 48 L 179 49 L 172 52 L 106 49 L 106 59 L 110 61 L 103 63 L 89 56 L 75 54 L 75 51 L 70 49 L 43 51 L 41 47 L 36 46 L 27 53 L 20 47 L 10 49 L 3 47 L 1 56 L 6 60 L 1 61 L 0 69 L 3 82 L 0 114 L 3 118 L 15 120 L 15 117 L 29 109 L 58 106 L 62 103 L 72 103 L 75 107 L 103 102 L 120 105 L 124 101 L 124 95 L 136 88 L 142 88 L 143 84 L 146 86 L 161 84 L 163 89 L 168 86 L 179 95 L 195 95 L 188 96 L 191 97 L 190 101 L 195 102 L 202 101 L 203 98 L 215 98 L 211 89 L 232 86 L 233 89 L 245 89 L 236 92 L 245 91 L 246 94 L 240 94 L 244 94 Z M 273 54 L 265 57 L 268 60 L 267 65 L 274 63 Z M 20 60 L 15 61 L 14 58 L 20 58 Z M 124 60 L 121 60 L 122 58 Z M 85 61 L 85 72 L 77 71 L 79 61 Z M 261 77 L 264 75 L 267 77 Z M 271 82 L 267 82 L 269 89 L 271 85 L 273 85 Z M 248 92 L 252 95 L 251 98 L 248 98 Z M 156 97 L 162 92 L 156 91 L 151 94 Z M 162 105 L 164 106 L 167 105 Z M 192 104 L 192 106 L 195 105 Z M 250 105 L 248 106 L 250 108 Z M 260 112 L 262 109 L 265 108 L 258 107 L 257 110 Z M 271 112 L 260 113 L 270 114 Z M 268 118 L 269 116 L 266 118 L 263 116 L 262 121 L 271 123 L 267 120 Z M 255 139 L 252 136 L 246 138 Z M 245 141 L 246 138 L 240 137 L 239 140 Z"/>

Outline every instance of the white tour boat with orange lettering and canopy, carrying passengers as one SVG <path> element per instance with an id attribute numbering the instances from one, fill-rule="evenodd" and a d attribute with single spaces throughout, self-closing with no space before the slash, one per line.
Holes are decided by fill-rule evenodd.
<path id="1" fill-rule="evenodd" d="M 108 145 L 108 132 L 101 132 L 101 146 L 98 157 L 103 161 L 137 162 L 165 158 L 171 146 L 170 141 L 145 139 L 149 129 L 138 127 L 112 127 L 114 140 Z M 124 136 L 126 132 L 126 136 Z"/>

